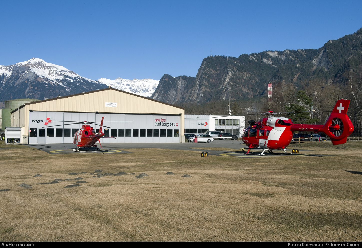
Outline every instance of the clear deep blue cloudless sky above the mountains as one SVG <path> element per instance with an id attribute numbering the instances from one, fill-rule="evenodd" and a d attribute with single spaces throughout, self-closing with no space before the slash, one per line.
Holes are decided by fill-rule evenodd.
<path id="1" fill-rule="evenodd" d="M 317 49 L 362 28 L 362 1 L 0 1 L 0 64 L 97 80 L 195 76 L 210 55 Z"/>

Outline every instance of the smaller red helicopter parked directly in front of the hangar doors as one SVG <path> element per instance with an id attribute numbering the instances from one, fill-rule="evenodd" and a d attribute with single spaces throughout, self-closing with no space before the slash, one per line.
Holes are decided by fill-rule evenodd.
<path id="1" fill-rule="evenodd" d="M 73 144 L 75 144 L 77 147 L 76 149 L 73 149 L 73 151 L 80 151 L 79 148 L 85 148 L 87 150 L 99 150 L 99 148 L 97 147 L 97 145 L 95 144 L 97 141 L 99 141 L 99 144 L 101 145 L 101 138 L 114 138 L 113 136 L 104 136 L 105 134 L 102 132 L 102 127 L 107 127 L 107 126 L 103 126 L 103 119 L 104 117 L 102 117 L 102 121 L 101 121 L 101 125 L 99 124 L 95 124 L 96 122 L 89 122 L 89 121 L 84 121 L 84 122 L 79 122 L 79 121 L 65 121 L 65 122 L 75 122 L 75 123 L 81 123 L 82 127 L 79 131 L 76 131 L 76 133 L 74 134 L 74 139 L 73 139 Z M 111 122 L 130 122 L 130 121 L 111 121 Z M 69 124 L 63 124 L 63 125 L 55 125 L 55 126 L 65 126 L 65 125 L 73 125 L 74 123 L 69 123 Z M 100 126 L 99 127 L 99 131 L 96 133 L 96 131 L 93 129 L 93 127 L 91 127 L 89 124 L 93 124 L 93 125 L 97 125 Z M 51 126 L 51 127 L 55 127 L 55 126 Z M 108 127 L 110 128 L 110 127 Z"/>

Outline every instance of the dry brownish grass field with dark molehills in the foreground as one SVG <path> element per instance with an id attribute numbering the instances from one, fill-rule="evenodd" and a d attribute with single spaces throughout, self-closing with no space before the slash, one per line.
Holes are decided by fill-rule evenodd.
<path id="1" fill-rule="evenodd" d="M 4 147 L 13 149 L 0 149 L 0 189 L 10 189 L 0 192 L 2 241 L 362 240 L 362 142 L 290 146 L 334 155 L 325 157 L 201 157 L 154 148 L 48 154 Z M 89 175 L 96 169 L 128 175 Z M 142 172 L 149 176 L 135 178 Z M 33 177 L 38 173 L 43 176 Z M 40 184 L 76 177 L 88 183 Z"/>

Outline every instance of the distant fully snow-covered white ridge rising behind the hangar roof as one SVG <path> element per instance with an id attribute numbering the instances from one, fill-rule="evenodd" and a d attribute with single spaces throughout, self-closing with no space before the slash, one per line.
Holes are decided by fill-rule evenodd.
<path id="1" fill-rule="evenodd" d="M 98 82 L 109 85 L 115 89 L 137 94 L 139 96 L 150 97 L 155 91 L 159 80 L 153 79 L 121 79 L 118 77 L 115 80 L 101 78 Z"/>

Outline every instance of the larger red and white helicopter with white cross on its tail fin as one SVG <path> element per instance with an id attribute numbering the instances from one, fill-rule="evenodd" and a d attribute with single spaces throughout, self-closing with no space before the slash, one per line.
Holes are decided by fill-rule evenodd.
<path id="1" fill-rule="evenodd" d="M 263 118 L 261 121 L 249 121 L 249 126 L 244 131 L 243 142 L 250 148 L 262 149 L 260 155 L 265 151 L 283 150 L 289 146 L 294 131 L 308 131 L 314 133 L 325 133 L 333 145 L 344 144 L 347 137 L 353 133 L 354 127 L 347 116 L 350 100 L 338 100 L 334 109 L 324 125 L 294 124 L 291 119 L 285 117 Z M 273 112 L 270 112 L 273 114 Z"/>

